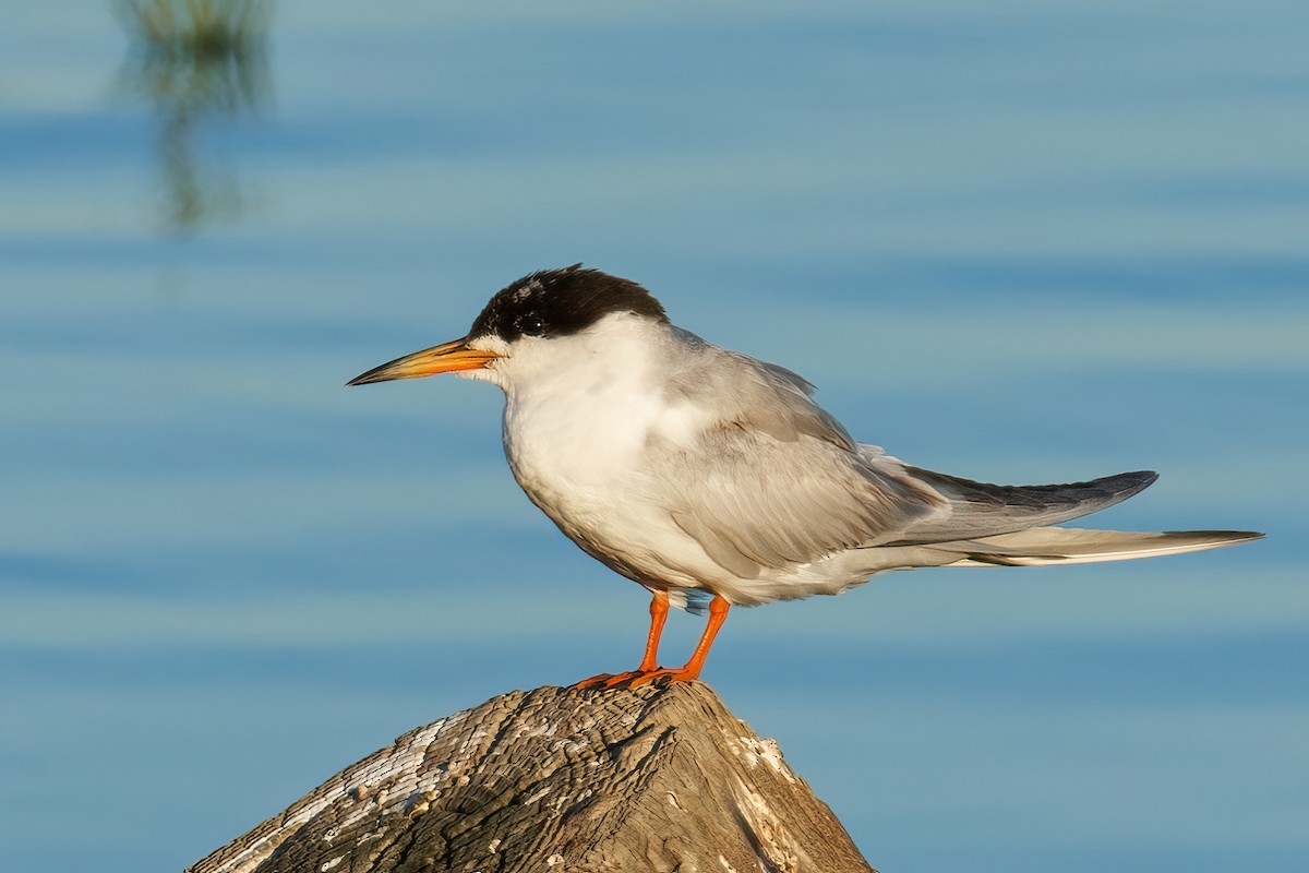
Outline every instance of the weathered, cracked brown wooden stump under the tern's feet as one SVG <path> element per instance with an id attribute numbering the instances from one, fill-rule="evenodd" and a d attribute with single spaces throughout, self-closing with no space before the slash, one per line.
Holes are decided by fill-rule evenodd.
<path id="1" fill-rule="evenodd" d="M 700 683 L 513 691 L 404 734 L 188 873 L 872 868 Z"/>

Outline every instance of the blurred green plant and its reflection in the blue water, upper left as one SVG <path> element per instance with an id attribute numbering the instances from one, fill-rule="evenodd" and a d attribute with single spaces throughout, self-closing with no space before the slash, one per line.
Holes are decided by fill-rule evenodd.
<path id="1" fill-rule="evenodd" d="M 200 157 L 206 123 L 255 115 L 270 93 L 264 34 L 272 0 L 113 0 L 131 46 L 119 84 L 149 99 L 168 192 L 165 223 L 194 233 L 234 220 L 242 198 L 232 170 Z"/>

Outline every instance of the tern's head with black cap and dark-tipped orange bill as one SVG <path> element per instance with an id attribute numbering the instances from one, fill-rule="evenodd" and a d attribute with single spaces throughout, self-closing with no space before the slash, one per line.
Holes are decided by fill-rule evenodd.
<path id="1" fill-rule="evenodd" d="M 581 264 L 542 270 L 497 292 L 467 336 L 398 357 L 348 385 L 458 373 L 505 387 L 516 357 L 531 357 L 545 344 L 584 334 L 615 314 L 668 325 L 664 306 L 635 281 Z"/>

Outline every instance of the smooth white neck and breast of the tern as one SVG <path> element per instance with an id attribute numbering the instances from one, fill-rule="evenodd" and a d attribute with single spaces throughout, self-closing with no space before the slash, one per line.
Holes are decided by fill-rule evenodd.
<path id="1" fill-rule="evenodd" d="M 505 455 L 518 484 L 588 554 L 658 586 L 720 572 L 668 514 L 648 469 L 653 436 L 683 441 L 704 414 L 668 398 L 666 335 L 611 317 L 584 334 L 514 347 L 503 373 Z M 664 363 L 664 364 L 661 364 Z"/>

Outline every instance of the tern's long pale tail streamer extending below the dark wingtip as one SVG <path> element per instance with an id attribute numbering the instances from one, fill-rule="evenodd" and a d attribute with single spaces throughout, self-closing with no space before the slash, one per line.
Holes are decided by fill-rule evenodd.
<path id="1" fill-rule="evenodd" d="M 1259 539 L 1247 530 L 1170 530 L 1157 534 L 1077 527 L 1031 527 L 1012 534 L 932 543 L 932 550 L 959 555 L 956 567 L 1000 564 L 1083 564 L 1097 560 L 1128 560 L 1219 548 Z"/>

